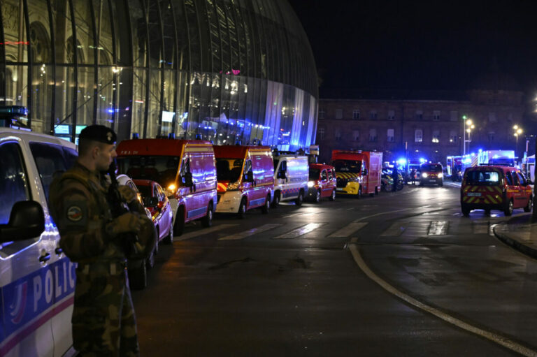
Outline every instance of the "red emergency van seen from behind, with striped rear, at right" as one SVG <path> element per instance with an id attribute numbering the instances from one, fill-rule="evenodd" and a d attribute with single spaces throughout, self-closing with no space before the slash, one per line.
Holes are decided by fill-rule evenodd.
<path id="1" fill-rule="evenodd" d="M 530 212 L 533 204 L 531 181 L 510 166 L 475 166 L 466 168 L 461 184 L 461 211 L 501 210 L 506 216 L 515 208 Z"/>

